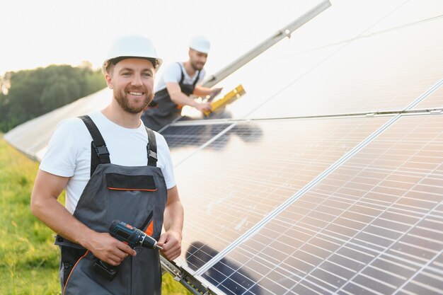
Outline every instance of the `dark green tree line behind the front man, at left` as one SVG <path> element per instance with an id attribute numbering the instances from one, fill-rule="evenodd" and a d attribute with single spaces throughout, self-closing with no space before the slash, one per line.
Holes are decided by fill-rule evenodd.
<path id="1" fill-rule="evenodd" d="M 100 69 L 51 65 L 0 76 L 0 131 L 8 132 L 34 117 L 105 88 Z"/>

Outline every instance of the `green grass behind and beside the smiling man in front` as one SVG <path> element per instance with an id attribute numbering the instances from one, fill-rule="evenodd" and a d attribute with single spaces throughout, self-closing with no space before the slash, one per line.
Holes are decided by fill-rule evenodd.
<path id="1" fill-rule="evenodd" d="M 0 295 L 61 294 L 54 232 L 29 208 L 37 170 L 38 163 L 0 134 Z M 169 274 L 163 275 L 162 289 L 163 295 L 190 295 Z"/>

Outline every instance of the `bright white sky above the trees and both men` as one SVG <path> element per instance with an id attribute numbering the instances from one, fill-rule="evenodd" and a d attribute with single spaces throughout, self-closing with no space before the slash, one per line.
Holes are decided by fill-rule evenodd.
<path id="1" fill-rule="evenodd" d="M 122 35 L 145 35 L 165 64 L 184 61 L 188 40 L 211 40 L 212 74 L 317 4 L 318 0 L 14 0 L 0 9 L 0 75 L 50 64 L 99 68 Z"/>

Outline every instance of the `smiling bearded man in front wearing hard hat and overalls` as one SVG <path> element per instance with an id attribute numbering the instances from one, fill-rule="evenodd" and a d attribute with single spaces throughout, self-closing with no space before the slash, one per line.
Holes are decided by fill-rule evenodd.
<path id="1" fill-rule="evenodd" d="M 180 255 L 183 206 L 169 149 L 140 120 L 161 62 L 151 40 L 117 40 L 102 66 L 110 104 L 62 121 L 42 158 L 31 210 L 58 233 L 64 295 L 161 294 L 159 250 L 110 236 L 115 219 L 155 238 L 167 259 Z"/>

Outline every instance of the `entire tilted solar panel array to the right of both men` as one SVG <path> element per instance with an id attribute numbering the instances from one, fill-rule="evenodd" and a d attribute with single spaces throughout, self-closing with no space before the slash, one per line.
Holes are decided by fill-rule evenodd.
<path id="1" fill-rule="evenodd" d="M 332 4 L 162 132 L 195 294 L 443 294 L 443 5 Z"/>

